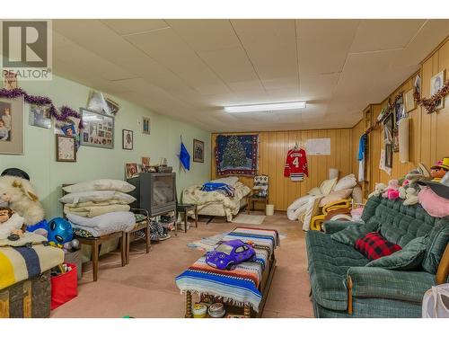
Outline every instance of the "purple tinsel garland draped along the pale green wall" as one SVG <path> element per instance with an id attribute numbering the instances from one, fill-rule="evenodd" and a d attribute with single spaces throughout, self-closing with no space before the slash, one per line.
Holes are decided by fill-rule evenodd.
<path id="1" fill-rule="evenodd" d="M 25 102 L 30 103 L 30 104 L 49 105 L 50 106 L 49 107 L 50 116 L 55 118 L 56 120 L 64 121 L 64 120 L 67 120 L 69 117 L 75 117 L 77 119 L 80 119 L 79 128 L 80 129 L 84 128 L 82 116 L 78 112 L 76 112 L 73 109 L 70 109 L 66 105 L 61 107 L 61 113 L 57 113 L 57 108 L 55 108 L 55 105 L 53 104 L 51 99 L 49 99 L 48 97 L 32 96 L 32 95 L 26 93 L 22 88 L 15 88 L 15 89 L 11 89 L 11 90 L 0 89 L 0 97 L 2 97 L 2 98 L 13 99 L 13 98 L 17 98 L 19 96 L 23 96 L 23 99 L 25 100 Z"/>

